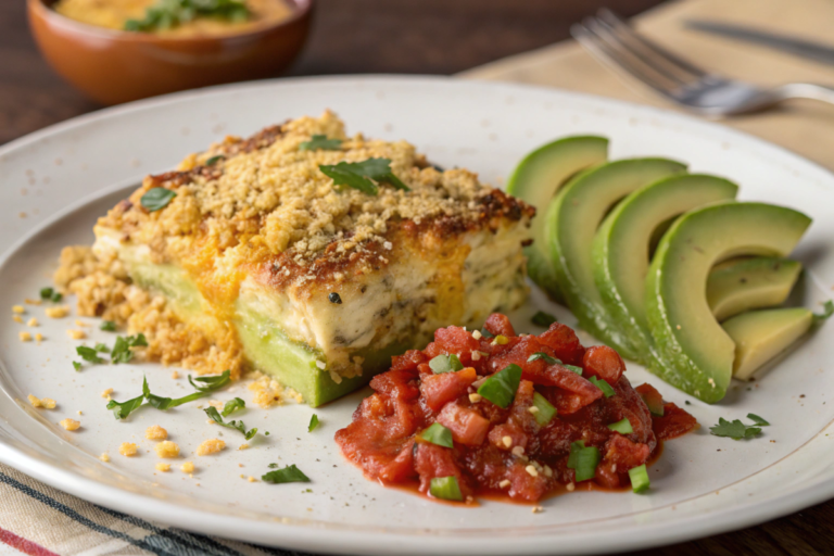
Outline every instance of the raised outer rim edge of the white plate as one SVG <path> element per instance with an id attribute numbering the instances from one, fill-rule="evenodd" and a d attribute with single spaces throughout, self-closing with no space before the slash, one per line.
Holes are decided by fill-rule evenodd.
<path id="1" fill-rule="evenodd" d="M 742 140 L 747 144 L 755 146 L 757 149 L 763 149 L 766 154 L 768 151 L 778 153 L 779 156 L 781 156 L 783 161 L 789 163 L 791 166 L 798 164 L 804 168 L 812 169 L 818 174 L 818 176 L 827 179 L 830 182 L 832 182 L 832 179 L 834 179 L 834 173 L 827 168 L 813 161 L 809 161 L 785 148 L 751 136 L 744 131 L 738 131 L 736 129 L 723 126 L 716 122 L 705 122 L 693 116 L 673 112 L 667 109 L 647 106 L 617 99 L 608 99 L 595 94 L 587 94 L 543 86 L 420 75 L 348 75 L 277 78 L 263 81 L 239 83 L 177 92 L 118 106 L 106 108 L 71 118 L 65 122 L 61 122 L 59 124 L 54 124 L 33 134 L 17 138 L 0 147 L 0 162 L 7 155 L 10 155 L 15 151 L 26 149 L 30 144 L 37 143 L 38 141 L 60 136 L 65 132 L 71 132 L 73 130 L 83 129 L 85 126 L 94 125 L 98 122 L 106 121 L 122 115 L 128 115 L 134 112 L 153 111 L 159 106 L 178 102 L 187 102 L 189 99 L 212 97 L 215 94 L 223 96 L 232 93 L 235 91 L 245 91 L 258 88 L 280 88 L 285 85 L 303 86 L 309 83 L 321 85 L 321 83 L 328 81 L 332 84 L 358 81 L 372 86 L 386 86 L 388 84 L 402 83 L 422 83 L 441 87 L 447 85 L 459 85 L 495 88 L 505 90 L 507 92 L 514 90 L 521 92 L 534 90 L 539 92 L 551 93 L 555 97 L 560 96 L 561 98 L 589 101 L 603 106 L 607 105 L 619 111 L 630 111 L 631 113 L 639 113 L 641 115 L 660 117 L 665 121 L 680 122 L 686 126 L 697 126 L 708 130 L 720 130 L 731 139 Z M 96 197 L 104 194 L 105 190 L 111 190 L 116 187 L 115 184 L 124 185 L 126 181 L 127 180 L 114 180 L 106 187 L 102 187 L 102 189 L 97 190 L 93 194 Z M 79 203 L 80 202 L 83 202 L 83 200 L 79 200 Z M 33 229 L 24 233 L 21 239 L 12 242 L 12 245 L 4 250 L 0 258 L 5 260 L 10 254 L 15 252 L 21 242 L 27 241 L 28 238 L 35 236 L 43 228 L 60 219 L 66 212 L 75 210 L 78 206 L 79 204 L 74 203 L 72 206 L 68 206 L 62 211 L 58 211 L 56 213 L 45 218 Z M 5 391 L 2 393 L 8 395 L 8 392 Z M 0 428 L 2 427 L 0 426 Z M 824 431 L 826 428 L 823 428 L 822 431 Z M 806 444 L 798 447 L 796 451 L 785 456 L 782 460 L 780 460 L 780 463 L 784 462 L 785 459 L 795 457 L 798 452 L 805 450 L 808 444 L 813 442 L 820 433 L 809 440 Z M 176 504 L 155 500 L 151 496 L 118 490 L 105 483 L 101 483 L 93 479 L 74 473 L 73 471 L 58 468 L 47 462 L 28 455 L 24 453 L 24 451 L 3 442 L 2 438 L 0 438 L 0 448 L 2 448 L 0 450 L 0 462 L 3 462 L 20 470 L 21 472 L 34 477 L 35 479 L 40 480 L 55 489 L 68 492 L 70 494 L 78 496 L 83 500 L 87 500 L 118 511 L 125 511 L 129 515 L 136 515 L 151 521 L 162 521 L 166 525 L 173 525 L 182 529 L 199 531 L 206 534 L 216 534 L 218 532 L 216 523 L 211 526 L 201 525 L 201 521 L 204 521 L 205 518 L 208 518 L 208 520 L 216 520 L 218 515 L 214 511 L 182 508 Z M 760 471 L 757 471 L 757 473 Z M 747 476 L 743 481 L 755 475 L 756 473 Z M 118 496 L 109 495 L 109 493 L 112 492 L 117 492 Z M 581 533 L 574 534 L 573 538 L 571 538 L 570 534 L 565 535 L 564 532 L 559 532 L 558 539 L 561 544 L 561 549 L 569 549 L 573 553 L 601 553 L 634 549 L 641 547 L 645 548 L 749 527 L 803 509 L 824 500 L 831 498 L 832 496 L 834 496 L 834 476 L 816 480 L 812 479 L 806 486 L 793 492 L 778 493 L 768 500 L 764 504 L 761 502 L 749 502 L 747 504 L 741 505 L 735 504 L 730 505 L 719 511 L 708 511 L 697 516 L 687 516 L 687 518 L 679 521 L 643 526 L 640 528 L 641 534 L 637 536 L 632 534 L 628 538 L 623 538 L 622 531 L 616 531 L 615 533 L 610 534 L 599 532 L 599 534 L 595 535 L 595 543 L 591 547 L 583 547 L 581 544 L 577 544 L 577 541 L 580 540 Z M 654 509 L 646 511 L 653 510 Z M 455 530 L 448 530 L 446 532 L 441 532 L 440 534 L 433 535 L 417 535 L 414 533 L 409 534 L 400 531 L 375 532 L 371 528 L 363 528 L 359 531 L 339 531 L 334 535 L 323 535 L 320 534 L 320 529 L 317 529 L 316 527 L 280 523 L 281 529 L 277 534 L 273 533 L 270 536 L 267 535 L 269 538 L 265 538 L 261 534 L 263 531 L 260 531 L 264 523 L 262 520 L 247 519 L 237 516 L 225 516 L 223 519 L 226 521 L 226 523 L 228 523 L 226 527 L 220 528 L 220 533 L 223 536 L 304 551 L 319 551 L 328 553 L 354 553 L 356 551 L 362 551 L 368 554 L 383 554 L 387 553 L 386 546 L 388 546 L 388 543 L 380 543 L 380 534 L 384 535 L 386 538 L 390 536 L 392 540 L 403 540 L 404 538 L 419 539 L 422 543 L 425 543 L 422 546 L 418 547 L 403 546 L 401 544 L 400 548 L 403 554 L 425 554 L 427 553 L 427 549 L 430 549 L 432 554 L 459 554 L 462 552 L 469 552 L 473 547 L 477 547 L 478 552 L 483 554 L 501 554 L 506 551 L 505 543 L 494 542 L 495 540 L 505 538 L 504 535 L 497 538 L 488 536 L 488 539 L 493 540 L 493 543 L 477 543 L 472 538 L 468 535 L 456 538 Z M 279 523 L 276 523 L 271 527 L 276 527 L 278 525 Z M 253 535 L 256 538 L 254 541 Z M 533 534 L 526 535 L 525 538 L 514 540 L 513 546 L 519 553 L 551 553 L 553 551 L 553 546 L 548 545 L 547 538 L 553 535 L 554 533 L 548 531 L 542 531 L 541 533 L 534 532 Z M 332 536 L 336 536 L 337 539 L 334 540 Z"/>

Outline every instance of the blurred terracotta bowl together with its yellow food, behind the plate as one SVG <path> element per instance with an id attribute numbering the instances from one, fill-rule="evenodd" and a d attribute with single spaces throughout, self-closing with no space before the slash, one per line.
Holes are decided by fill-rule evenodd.
<path id="1" fill-rule="evenodd" d="M 122 10 L 58 2 L 67 15 L 55 3 L 28 0 L 35 40 L 61 76 L 103 104 L 277 75 L 301 51 L 313 9 L 313 0 L 260 0 L 249 18 L 177 25 L 142 18 L 146 4 L 154 3 L 142 0 L 116 2 Z M 128 22 L 142 28 L 118 28 Z"/>

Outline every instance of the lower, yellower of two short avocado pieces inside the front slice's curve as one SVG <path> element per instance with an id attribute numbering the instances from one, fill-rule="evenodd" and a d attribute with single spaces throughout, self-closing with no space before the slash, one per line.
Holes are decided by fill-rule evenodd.
<path id="1" fill-rule="evenodd" d="M 805 307 L 771 308 L 742 313 L 721 327 L 735 342 L 733 377 L 747 380 L 764 363 L 798 340 L 813 324 Z"/>

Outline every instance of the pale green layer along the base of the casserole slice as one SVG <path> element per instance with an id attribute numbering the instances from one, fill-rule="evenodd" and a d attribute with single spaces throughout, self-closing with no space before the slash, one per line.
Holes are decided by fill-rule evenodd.
<path id="1" fill-rule="evenodd" d="M 128 274 L 137 285 L 163 294 L 181 318 L 202 315 L 202 295 L 184 270 L 174 265 L 128 261 Z M 327 364 L 320 351 L 289 339 L 273 319 L 256 308 L 240 302 L 235 308 L 235 325 L 247 359 L 258 370 L 296 390 L 313 407 L 361 388 L 376 372 L 390 366 L 392 355 L 413 348 L 391 344 L 381 350 L 356 351 L 354 355 L 365 359 L 362 376 L 337 383 L 330 372 L 316 366 L 317 362 Z"/>

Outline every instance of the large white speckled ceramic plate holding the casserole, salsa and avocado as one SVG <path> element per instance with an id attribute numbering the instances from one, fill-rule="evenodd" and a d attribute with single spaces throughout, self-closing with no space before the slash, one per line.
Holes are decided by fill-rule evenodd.
<path id="1" fill-rule="evenodd" d="M 687 406 L 704 426 L 666 444 L 650 468 L 648 495 L 583 492 L 529 506 L 483 503 L 478 508 L 435 504 L 384 489 L 345 463 L 332 440 L 350 421 L 361 392 L 319 408 L 323 426 L 306 427 L 313 410 L 286 405 L 250 408 L 249 426 L 268 438 L 237 451 L 237 432 L 206 424 L 197 404 L 162 414 L 146 408 L 117 422 L 100 393 L 124 400 L 141 390 L 142 375 L 154 391 L 182 395 L 190 389 L 170 370 L 137 364 L 73 370 L 67 328 L 43 307 L 28 306 L 47 338 L 22 343 L 23 325 L 11 306 L 37 296 L 50 283 L 60 249 L 89 242 L 91 227 L 129 187 L 148 173 L 170 168 L 189 152 L 226 134 L 248 135 L 303 114 L 337 111 L 351 132 L 405 138 L 443 166 L 465 166 L 502 184 L 517 161 L 549 139 L 601 134 L 612 157 L 665 155 L 695 172 L 741 184 L 741 198 L 799 208 L 814 219 L 795 253 L 806 265 L 800 301 L 807 306 L 831 295 L 834 283 L 834 177 L 782 149 L 724 127 L 655 109 L 549 89 L 444 78 L 290 79 L 181 93 L 76 118 L 0 150 L 0 460 L 53 486 L 117 510 L 181 528 L 255 543 L 307 551 L 363 554 L 566 554 L 599 553 L 671 543 L 741 528 L 797 510 L 834 495 L 834 468 L 826 427 L 834 416 L 834 325 L 771 365 L 755 383 L 735 384 L 716 406 Z M 128 188 L 128 189 L 126 189 Z M 535 308 L 559 313 L 534 292 L 515 318 L 519 329 Z M 84 319 L 92 321 L 92 319 Z M 112 343 L 113 336 L 92 332 Z M 590 342 L 589 338 L 583 339 Z M 684 396 L 632 365 L 633 383 L 650 380 L 665 397 Z M 34 409 L 26 395 L 58 401 L 51 412 Z M 219 399 L 249 392 L 218 394 Z M 252 405 L 252 404 L 250 404 Z M 78 416 L 77 412 L 83 415 Z M 712 437 L 719 416 L 757 413 L 772 422 L 755 440 Z M 81 421 L 75 433 L 55 424 Z M 154 471 L 146 427 L 160 424 L 188 457 L 169 473 Z M 194 457 L 204 439 L 223 433 L 230 448 Z M 139 457 L 118 455 L 136 442 Z M 112 462 L 98 459 L 108 452 Z M 178 470 L 190 459 L 194 478 Z M 250 483 L 269 463 L 296 464 L 311 484 Z M 242 466 L 242 467 L 240 467 Z M 312 492 L 306 492 L 309 488 Z"/>

